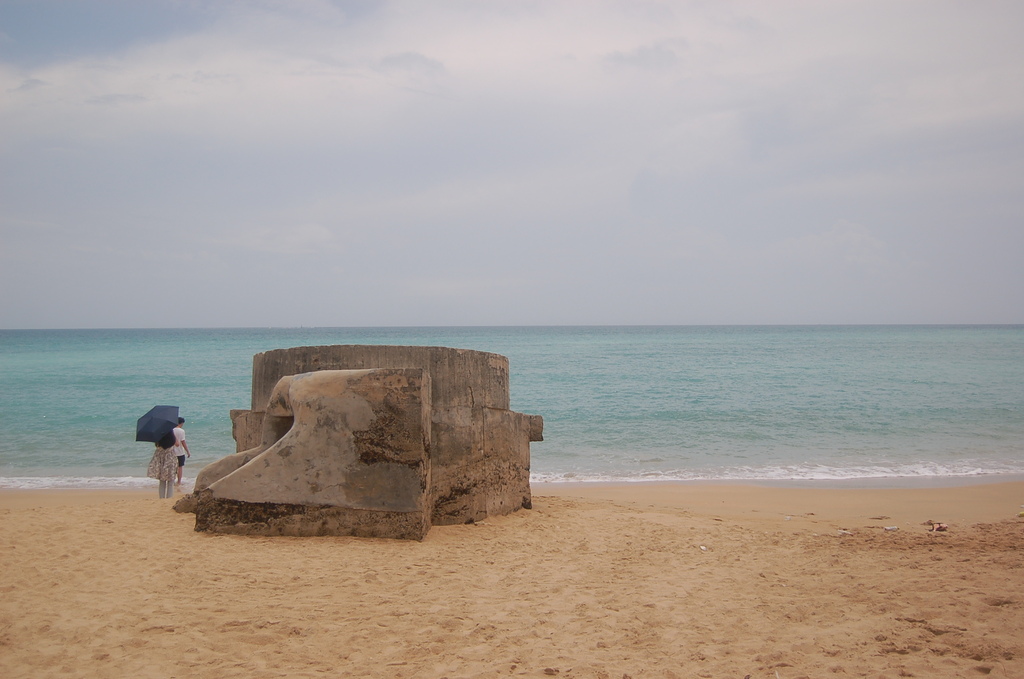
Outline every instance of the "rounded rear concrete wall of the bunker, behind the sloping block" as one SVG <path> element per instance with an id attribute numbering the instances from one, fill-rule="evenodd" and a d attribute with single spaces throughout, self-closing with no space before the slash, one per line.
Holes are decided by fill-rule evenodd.
<path id="1" fill-rule="evenodd" d="M 430 521 L 465 523 L 529 507 L 529 442 L 544 420 L 509 410 L 505 356 L 449 347 L 333 345 L 253 357 L 252 410 L 231 411 L 237 450 L 259 440 L 285 376 L 323 370 L 418 368 L 430 376 Z M 197 489 L 201 486 L 197 484 Z"/>

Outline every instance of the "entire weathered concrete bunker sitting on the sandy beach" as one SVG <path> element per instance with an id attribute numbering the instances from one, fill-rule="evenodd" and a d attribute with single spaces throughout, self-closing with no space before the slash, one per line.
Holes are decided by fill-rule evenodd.
<path id="1" fill-rule="evenodd" d="M 421 540 L 531 506 L 544 421 L 509 409 L 505 356 L 447 347 L 332 345 L 253 357 L 234 455 L 205 467 L 196 529 Z"/>

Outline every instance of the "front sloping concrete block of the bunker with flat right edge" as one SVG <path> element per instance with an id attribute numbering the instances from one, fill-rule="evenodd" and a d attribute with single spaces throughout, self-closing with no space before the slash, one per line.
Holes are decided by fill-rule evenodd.
<path id="1" fill-rule="evenodd" d="M 430 382 L 415 368 L 283 377 L 260 447 L 200 473 L 196 529 L 422 539 Z"/>

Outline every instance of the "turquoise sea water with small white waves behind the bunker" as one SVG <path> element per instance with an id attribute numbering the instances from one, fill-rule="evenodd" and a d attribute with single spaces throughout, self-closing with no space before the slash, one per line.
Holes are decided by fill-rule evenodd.
<path id="1" fill-rule="evenodd" d="M 165 404 L 194 477 L 253 354 L 321 344 L 508 356 L 538 481 L 1024 473 L 1024 326 L 65 330 L 0 331 L 0 489 L 155 483 L 134 427 Z"/>

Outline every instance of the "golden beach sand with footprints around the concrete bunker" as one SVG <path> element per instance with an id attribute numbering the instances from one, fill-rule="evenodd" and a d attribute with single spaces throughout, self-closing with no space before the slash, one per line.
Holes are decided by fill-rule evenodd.
<path id="1" fill-rule="evenodd" d="M 2 675 L 1024 677 L 1022 482 L 534 493 L 418 543 L 0 491 Z"/>

